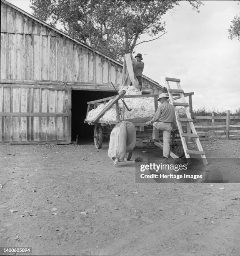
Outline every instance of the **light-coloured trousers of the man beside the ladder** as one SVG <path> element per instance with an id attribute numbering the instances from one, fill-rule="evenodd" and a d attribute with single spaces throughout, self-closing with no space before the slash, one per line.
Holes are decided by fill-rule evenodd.
<path id="1" fill-rule="evenodd" d="M 170 151 L 170 135 L 172 131 L 172 123 L 154 122 L 153 139 L 159 138 L 159 130 L 163 131 L 163 157 L 168 158 Z"/>

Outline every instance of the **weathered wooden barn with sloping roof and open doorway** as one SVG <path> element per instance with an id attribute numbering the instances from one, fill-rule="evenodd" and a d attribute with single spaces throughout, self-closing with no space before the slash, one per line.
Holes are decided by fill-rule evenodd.
<path id="1" fill-rule="evenodd" d="M 71 143 L 87 101 L 116 95 L 122 64 L 1 0 L 0 141 Z M 143 93 L 163 87 L 143 76 Z"/>

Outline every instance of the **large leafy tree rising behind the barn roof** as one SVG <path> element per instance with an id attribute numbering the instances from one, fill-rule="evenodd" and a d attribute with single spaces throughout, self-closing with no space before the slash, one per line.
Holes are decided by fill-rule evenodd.
<path id="1" fill-rule="evenodd" d="M 194 10 L 203 5 L 190 1 Z M 33 15 L 52 26 L 62 23 L 67 34 L 121 60 L 132 53 L 140 36 L 158 39 L 165 31 L 163 15 L 179 5 L 173 0 L 31 0 Z M 160 32 L 163 34 L 157 36 Z M 156 37 L 157 36 L 157 37 Z M 149 40 L 149 41 L 152 41 Z"/>

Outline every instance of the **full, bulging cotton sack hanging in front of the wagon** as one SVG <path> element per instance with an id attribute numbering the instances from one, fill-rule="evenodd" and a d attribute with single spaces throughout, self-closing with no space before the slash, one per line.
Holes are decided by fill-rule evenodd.
<path id="1" fill-rule="evenodd" d="M 111 131 L 107 155 L 114 161 L 123 162 L 127 152 L 136 145 L 136 131 L 133 123 L 123 121 L 118 123 Z"/>

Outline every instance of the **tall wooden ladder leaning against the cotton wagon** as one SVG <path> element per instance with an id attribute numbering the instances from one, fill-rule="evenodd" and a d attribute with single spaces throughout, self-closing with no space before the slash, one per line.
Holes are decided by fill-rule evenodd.
<path id="1" fill-rule="evenodd" d="M 180 85 L 180 79 L 165 77 L 165 82 L 166 82 L 166 85 L 167 85 L 167 88 L 168 88 L 168 94 L 169 94 L 170 102 L 175 107 L 176 106 L 184 107 L 185 114 L 187 116 L 187 118 L 180 118 L 178 116 L 178 111 L 175 108 L 176 123 L 178 125 L 178 131 L 179 131 L 179 134 L 180 134 L 180 137 L 181 137 L 181 141 L 183 143 L 183 149 L 184 149 L 184 153 L 185 153 L 185 156 L 186 156 L 186 159 L 187 159 L 188 163 L 190 163 L 190 154 L 200 154 L 201 158 L 203 159 L 203 163 L 208 164 L 208 161 L 206 159 L 206 153 L 205 153 L 205 151 L 203 151 L 203 147 L 201 145 L 199 135 L 196 132 L 195 126 L 193 124 L 193 119 L 192 119 L 190 111 L 188 109 L 189 105 L 185 100 L 184 91 L 183 91 L 183 89 Z M 176 82 L 177 86 L 178 86 L 178 89 L 171 89 L 169 82 Z M 172 94 L 174 92 L 180 94 L 182 102 L 175 102 L 174 101 L 173 94 Z M 188 133 L 183 133 L 183 128 L 182 128 L 181 122 L 187 122 L 187 124 L 190 126 L 190 131 L 188 131 Z M 192 133 L 191 133 L 191 131 L 192 131 Z M 198 150 L 188 150 L 188 144 L 185 140 L 186 137 L 195 139 L 196 144 L 198 146 Z"/>

